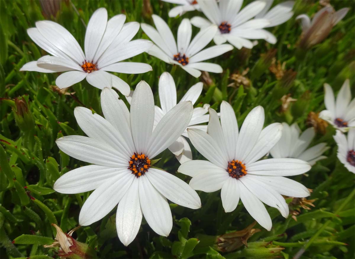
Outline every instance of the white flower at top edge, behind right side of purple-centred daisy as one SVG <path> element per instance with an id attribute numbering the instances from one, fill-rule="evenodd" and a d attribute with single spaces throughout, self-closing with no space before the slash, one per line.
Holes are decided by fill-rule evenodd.
<path id="1" fill-rule="evenodd" d="M 267 19 L 270 22 L 270 24 L 264 28 L 278 26 L 288 21 L 293 16 L 292 9 L 295 4 L 294 1 L 282 2 L 269 10 L 273 2 L 274 0 L 266 0 L 266 6 L 264 9 L 255 16 L 256 19 Z M 267 42 L 271 44 L 276 43 L 277 39 L 274 34 L 268 32 L 267 30 L 262 31 L 267 35 L 267 38 L 265 39 Z"/>

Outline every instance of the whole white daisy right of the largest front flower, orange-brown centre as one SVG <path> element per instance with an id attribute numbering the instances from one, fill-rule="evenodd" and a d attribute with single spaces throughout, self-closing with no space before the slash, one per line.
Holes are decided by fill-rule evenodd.
<path id="1" fill-rule="evenodd" d="M 271 229 L 271 218 L 263 203 L 277 208 L 282 216 L 289 209 L 282 195 L 306 197 L 307 188 L 285 178 L 303 174 L 311 166 L 295 158 L 270 158 L 258 161 L 279 141 L 282 124 L 264 125 L 264 109 L 257 106 L 247 115 L 238 130 L 233 108 L 223 101 L 217 113 L 209 109 L 207 133 L 188 129 L 192 145 L 208 161 L 191 160 L 180 165 L 180 173 L 192 176 L 195 190 L 221 190 L 225 212 L 233 211 L 241 199 L 249 214 L 264 228 Z"/>

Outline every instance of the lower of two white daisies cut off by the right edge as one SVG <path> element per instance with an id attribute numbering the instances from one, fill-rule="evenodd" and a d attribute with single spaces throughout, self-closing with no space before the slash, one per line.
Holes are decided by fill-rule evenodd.
<path id="1" fill-rule="evenodd" d="M 337 130 L 334 136 L 338 145 L 337 157 L 340 162 L 351 172 L 355 174 L 355 128 L 351 128 L 346 139 L 344 133 Z"/>

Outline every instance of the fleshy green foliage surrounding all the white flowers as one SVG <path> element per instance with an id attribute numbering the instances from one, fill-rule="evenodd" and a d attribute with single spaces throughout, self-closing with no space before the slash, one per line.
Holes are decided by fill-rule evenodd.
<path id="1" fill-rule="evenodd" d="M 220 102 L 226 100 L 234 107 L 239 125 L 253 107 L 262 105 L 266 125 L 297 122 L 304 130 L 310 126 L 306 123 L 308 113 L 324 109 L 323 83 L 329 83 L 337 91 L 349 78 L 354 96 L 354 2 L 331 4 L 335 10 L 350 7 L 350 11 L 326 40 L 307 52 L 303 51 L 302 55 L 299 55 L 301 50 L 297 50 L 301 29 L 294 17 L 300 13 L 313 15 L 321 8 L 318 1 L 297 1 L 294 17 L 271 28 L 277 36 L 277 44 L 270 45 L 260 40 L 252 50 L 234 49 L 214 58 L 212 62 L 220 64 L 224 73 L 209 74 L 211 79 L 205 80 L 209 84 L 204 85 L 197 105 L 209 103 L 219 109 Z M 43 247 L 51 244 L 56 235 L 51 223 L 58 224 L 64 232 L 76 227 L 80 208 L 89 193 L 64 195 L 53 190 L 59 176 L 85 165 L 59 151 L 55 140 L 63 135 L 83 135 L 73 116 L 76 106 L 86 106 L 102 114 L 99 90 L 82 81 L 69 88 L 68 94 L 60 94 L 52 87 L 59 73 L 19 72 L 24 63 L 46 54 L 28 37 L 26 29 L 34 27 L 35 21 L 51 19 L 67 28 L 83 45 L 83 23 L 87 24 L 98 7 L 106 7 L 109 17 L 125 13 L 127 22 L 152 24 L 152 20 L 144 11 L 142 0 L 62 1 L 55 17 L 44 17 L 39 1 L 1 0 L 0 5 L 0 257 L 59 258 L 58 248 Z M 168 18 L 167 10 L 173 5 L 161 1 L 151 1 L 151 5 L 153 13 L 162 16 L 176 34 L 182 18 Z M 202 14 L 195 11 L 183 17 L 195 15 Z M 197 31 L 193 28 L 193 33 Z M 147 36 L 140 30 L 135 38 Z M 263 63 L 261 55 L 270 49 L 276 49 L 276 60 L 284 63 L 286 69 L 296 72 L 295 80 L 288 85 L 269 71 L 270 62 Z M 147 54 L 138 55 L 131 61 L 149 63 L 153 71 L 118 76 L 132 89 L 140 80 L 147 81 L 156 104 L 159 104 L 158 77 L 162 72 L 168 71 L 173 75 L 178 100 L 199 81 L 181 68 Z M 234 83 L 231 75 L 241 74 L 247 68 L 250 71 L 245 77 L 251 79 L 250 85 L 231 84 Z M 290 94 L 297 101 L 282 111 L 280 97 L 285 94 Z M 27 124 L 16 117 L 14 98 L 22 100 L 22 96 L 29 101 Z M 28 119 L 31 116 L 33 119 Z M 143 220 L 136 240 L 124 247 L 117 237 L 114 210 L 97 223 L 76 230 L 73 237 L 94 248 L 98 258 L 293 258 L 299 251 L 300 258 L 354 258 L 354 174 L 337 160 L 337 147 L 332 135 L 334 129 L 328 126 L 324 134 L 318 133 L 312 143 L 327 142 L 331 147 L 325 153 L 328 158 L 317 162 L 307 174 L 293 177 L 313 189 L 307 199 L 316 199 L 313 202 L 315 208 L 301 208 L 297 221 L 291 215 L 284 219 L 276 209 L 268 208 L 273 219 L 272 230 L 268 232 L 256 225 L 255 228 L 262 230 L 249 238 L 248 247 L 242 246 L 231 253 L 215 250 L 217 235 L 242 230 L 253 222 L 241 202 L 234 212 L 225 213 L 219 192 L 199 192 L 202 208 L 198 210 L 171 204 L 174 225 L 168 237 L 155 234 Z M 193 150 L 193 156 L 202 159 L 196 150 Z M 179 163 L 171 153 L 165 151 L 159 157 L 162 159 L 157 162 L 157 167 L 171 173 L 176 171 Z M 190 180 L 188 176 L 176 175 L 187 182 Z M 287 201 L 291 202 L 291 199 Z"/>

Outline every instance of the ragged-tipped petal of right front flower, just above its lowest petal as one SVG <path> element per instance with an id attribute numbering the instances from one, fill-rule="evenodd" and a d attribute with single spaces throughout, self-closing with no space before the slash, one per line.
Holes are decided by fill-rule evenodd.
<path id="1" fill-rule="evenodd" d="M 239 179 L 250 192 L 253 193 L 263 203 L 279 210 L 284 218 L 289 214 L 289 208 L 285 199 L 274 189 L 268 187 L 263 182 L 259 182 L 257 178 L 249 178 L 245 175 Z"/>

